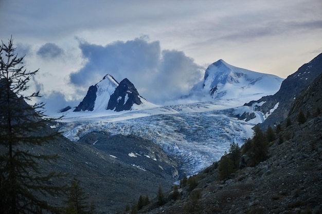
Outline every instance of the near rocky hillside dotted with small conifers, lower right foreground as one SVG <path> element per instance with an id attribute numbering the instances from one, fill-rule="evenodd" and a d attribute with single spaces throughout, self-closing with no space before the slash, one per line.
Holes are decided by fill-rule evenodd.
<path id="1" fill-rule="evenodd" d="M 269 158 L 218 179 L 218 163 L 198 175 L 180 199 L 144 213 L 322 213 L 322 74 L 303 90 L 269 144 Z M 305 120 L 300 121 L 300 112 Z M 300 121 L 300 122 L 299 122 Z M 220 163 L 219 163 L 220 165 Z M 193 190 L 191 190 L 193 189 Z"/>

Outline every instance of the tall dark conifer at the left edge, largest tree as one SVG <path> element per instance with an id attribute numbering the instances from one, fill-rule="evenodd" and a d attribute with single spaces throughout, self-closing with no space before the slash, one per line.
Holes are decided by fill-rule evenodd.
<path id="1" fill-rule="evenodd" d="M 39 162 L 57 158 L 35 154 L 29 149 L 48 143 L 58 136 L 46 131 L 52 119 L 44 118 L 43 103 L 28 105 L 25 100 L 39 97 L 28 93 L 28 82 L 36 71 L 27 71 L 24 57 L 15 53 L 12 37 L 0 47 L 0 213 L 59 212 L 43 198 L 62 193 L 49 179 L 60 173 L 42 174 Z M 29 149 L 28 149 L 29 148 Z"/>

